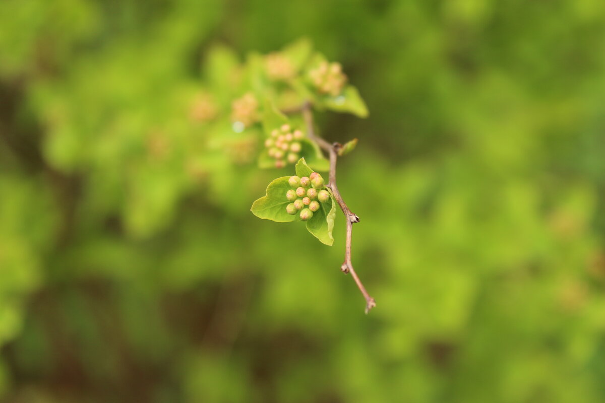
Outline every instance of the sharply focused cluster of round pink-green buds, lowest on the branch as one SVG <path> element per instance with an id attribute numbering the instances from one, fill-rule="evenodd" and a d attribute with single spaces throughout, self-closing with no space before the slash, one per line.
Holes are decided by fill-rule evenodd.
<path id="1" fill-rule="evenodd" d="M 330 193 L 324 189 L 324 178 L 317 172 L 302 178 L 290 176 L 288 183 L 292 189 L 286 192 L 286 199 L 291 202 L 286 206 L 286 211 L 291 216 L 298 213 L 302 221 L 312 218 L 313 213 L 321 207 L 319 203 L 330 199 Z"/>

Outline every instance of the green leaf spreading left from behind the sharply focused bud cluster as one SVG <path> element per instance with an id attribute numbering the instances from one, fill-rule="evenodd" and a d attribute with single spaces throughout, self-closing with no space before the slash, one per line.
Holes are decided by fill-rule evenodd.
<path id="1" fill-rule="evenodd" d="M 286 199 L 286 192 L 292 187 L 288 183 L 290 176 L 282 176 L 281 178 L 275 179 L 267 186 L 266 195 L 260 199 L 257 199 L 252 204 L 252 214 L 258 218 L 271 220 L 275 222 L 291 222 L 296 221 L 298 214 L 290 216 L 286 213 L 286 206 L 290 202 Z"/>

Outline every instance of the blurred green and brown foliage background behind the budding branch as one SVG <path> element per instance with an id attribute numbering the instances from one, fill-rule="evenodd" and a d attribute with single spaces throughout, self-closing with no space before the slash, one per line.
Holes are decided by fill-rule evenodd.
<path id="1" fill-rule="evenodd" d="M 370 110 L 318 117 L 367 316 L 342 216 L 186 160 L 208 50 L 301 36 Z M 604 106 L 598 0 L 4 0 L 0 400 L 603 402 Z"/>

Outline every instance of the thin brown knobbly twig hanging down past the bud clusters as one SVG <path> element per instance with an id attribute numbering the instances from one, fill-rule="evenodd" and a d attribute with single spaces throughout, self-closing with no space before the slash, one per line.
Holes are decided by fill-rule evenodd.
<path id="1" fill-rule="evenodd" d="M 353 213 L 350 208 L 348 208 L 347 204 L 342 199 L 340 192 L 338 191 L 338 186 L 336 186 L 336 160 L 338 159 L 338 150 L 341 147 L 341 144 L 330 144 L 323 138 L 315 135 L 315 129 L 313 128 L 313 112 L 311 111 L 311 104 L 309 102 L 306 102 L 304 105 L 302 105 L 301 111 L 302 117 L 304 118 L 307 126 L 307 135 L 312 141 L 315 141 L 315 143 L 317 143 L 321 149 L 325 150 L 325 152 L 329 153 L 330 155 L 330 180 L 327 184 L 327 187 L 332 190 L 332 194 L 338 202 L 342 213 L 344 214 L 345 218 L 347 218 L 347 245 L 345 248 L 344 262 L 342 263 L 341 270 L 344 273 L 351 273 L 351 276 L 353 277 L 353 280 L 355 280 L 359 291 L 361 291 L 361 294 L 364 295 L 365 313 L 367 314 L 370 309 L 376 306 L 376 301 L 374 301 L 374 298 L 372 298 L 365 290 L 364 284 L 361 282 L 361 280 L 359 280 L 359 277 L 353 268 L 353 263 L 351 263 L 351 238 L 353 235 L 353 224 L 355 222 L 359 222 L 359 217 L 357 214 Z"/>

